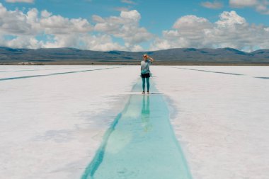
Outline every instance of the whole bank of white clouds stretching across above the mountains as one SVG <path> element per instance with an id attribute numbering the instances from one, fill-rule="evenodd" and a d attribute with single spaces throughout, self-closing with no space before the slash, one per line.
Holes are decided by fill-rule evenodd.
<path id="1" fill-rule="evenodd" d="M 252 5 L 249 1 L 248 6 Z M 269 27 L 249 24 L 236 11 L 222 12 L 216 22 L 193 15 L 182 16 L 159 37 L 139 25 L 141 18 L 137 10 L 120 11 L 119 16 L 93 15 L 90 23 L 86 18 L 66 18 L 36 8 L 26 12 L 8 11 L 0 3 L 0 46 L 75 47 L 101 51 L 177 47 L 233 47 L 253 51 L 269 48 Z M 143 44 L 148 44 L 149 48 L 144 49 Z"/>

